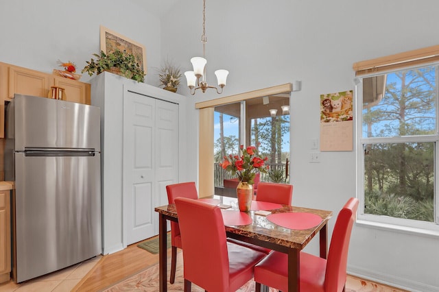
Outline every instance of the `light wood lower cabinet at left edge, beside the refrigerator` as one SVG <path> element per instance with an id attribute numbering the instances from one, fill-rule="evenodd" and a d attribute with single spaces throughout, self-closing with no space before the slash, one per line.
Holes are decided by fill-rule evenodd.
<path id="1" fill-rule="evenodd" d="M 11 271 L 10 191 L 0 191 L 0 283 L 9 281 Z"/>

